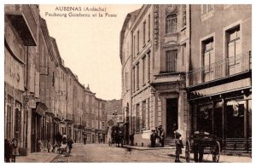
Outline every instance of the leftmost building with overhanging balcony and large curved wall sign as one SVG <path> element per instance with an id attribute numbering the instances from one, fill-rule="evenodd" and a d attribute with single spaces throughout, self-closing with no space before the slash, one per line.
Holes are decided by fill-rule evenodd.
<path id="1" fill-rule="evenodd" d="M 17 138 L 20 153 L 32 146 L 32 109 L 38 88 L 38 5 L 4 6 L 4 138 Z"/>

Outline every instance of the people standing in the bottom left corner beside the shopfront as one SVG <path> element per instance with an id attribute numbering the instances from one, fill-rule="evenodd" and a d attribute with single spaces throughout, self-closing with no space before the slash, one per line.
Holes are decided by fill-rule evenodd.
<path id="1" fill-rule="evenodd" d="M 16 156 L 19 155 L 19 145 L 18 140 L 14 138 L 13 140 L 4 140 L 4 161 L 5 162 L 15 162 Z"/>

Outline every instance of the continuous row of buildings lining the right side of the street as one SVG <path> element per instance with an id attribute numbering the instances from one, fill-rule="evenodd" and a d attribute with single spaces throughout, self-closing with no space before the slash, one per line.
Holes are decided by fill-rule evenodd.
<path id="1" fill-rule="evenodd" d="M 149 145 L 150 131 L 162 125 L 166 142 L 176 129 L 184 141 L 205 130 L 224 153 L 250 153 L 251 55 L 251 5 L 154 4 L 128 14 L 120 34 L 122 110 L 135 144 Z"/>

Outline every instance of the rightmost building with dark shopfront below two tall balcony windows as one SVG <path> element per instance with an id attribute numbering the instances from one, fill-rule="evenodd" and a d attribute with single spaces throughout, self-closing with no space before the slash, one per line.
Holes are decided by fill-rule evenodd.
<path id="1" fill-rule="evenodd" d="M 252 5 L 191 5 L 190 129 L 252 150 Z"/>

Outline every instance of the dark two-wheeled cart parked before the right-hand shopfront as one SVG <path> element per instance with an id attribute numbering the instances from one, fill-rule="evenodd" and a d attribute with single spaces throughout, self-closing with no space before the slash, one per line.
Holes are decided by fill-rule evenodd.
<path id="1" fill-rule="evenodd" d="M 195 161 L 198 161 L 197 155 L 198 153 L 201 153 L 202 155 L 207 154 L 207 157 L 212 155 L 212 162 L 218 162 L 220 150 L 220 144 L 216 136 L 207 132 L 196 131 L 189 136 L 186 142 L 185 159 L 189 162 L 190 154 L 194 153 L 194 156 L 196 157 Z"/>

